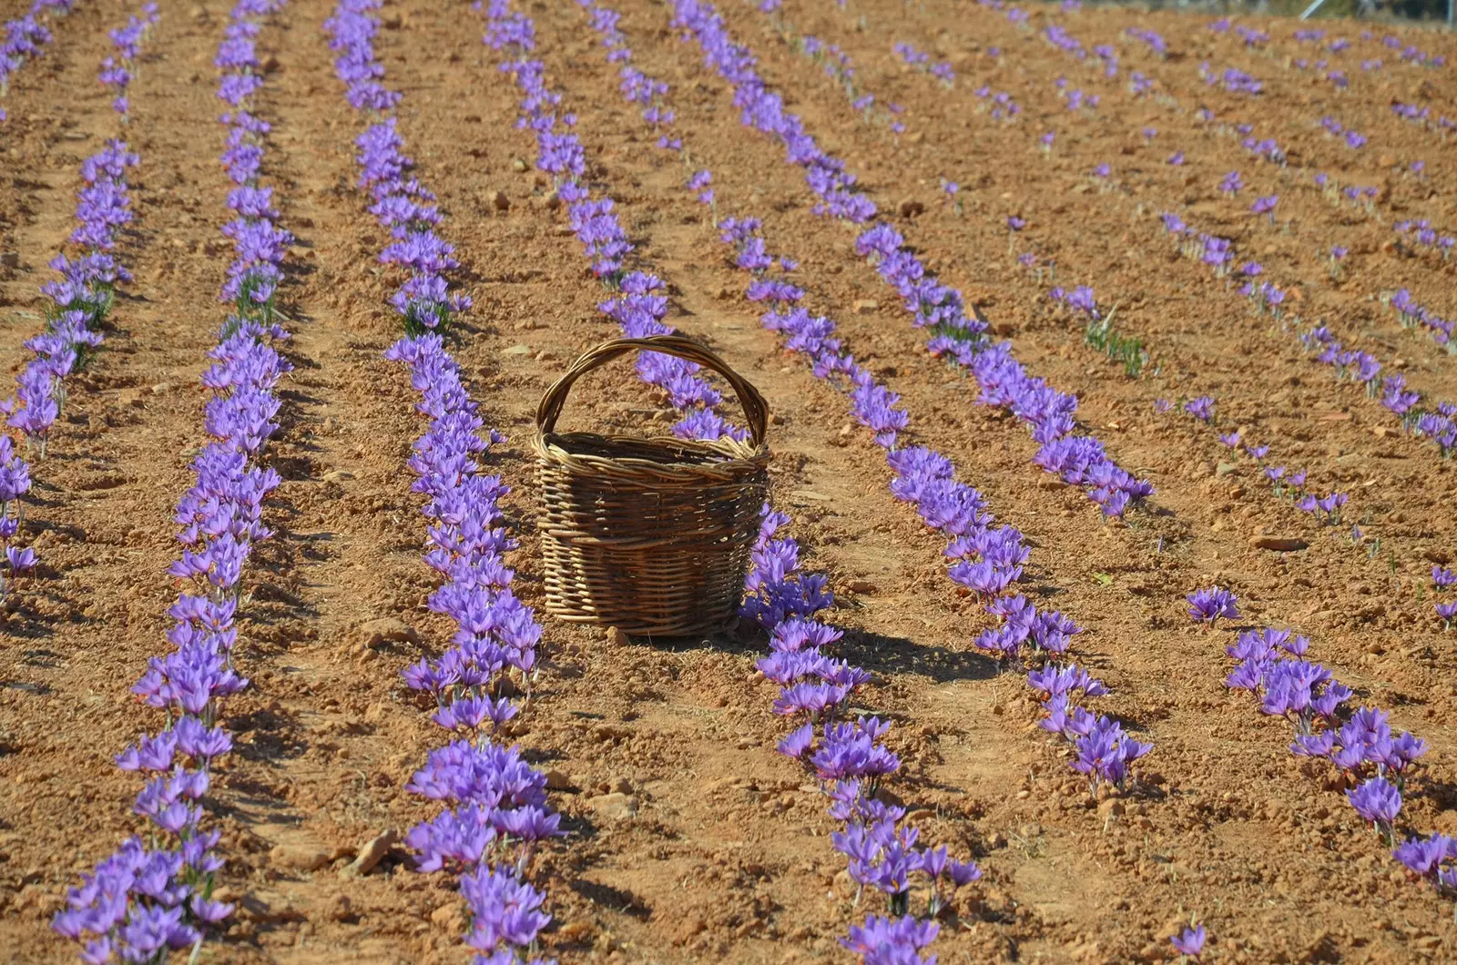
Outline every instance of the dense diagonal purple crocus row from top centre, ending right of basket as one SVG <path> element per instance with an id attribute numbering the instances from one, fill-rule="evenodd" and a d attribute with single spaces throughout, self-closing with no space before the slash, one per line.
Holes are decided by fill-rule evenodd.
<path id="1" fill-rule="evenodd" d="M 967 315 L 962 293 L 938 281 L 889 222 L 876 220 L 876 204 L 855 190 L 855 176 L 845 162 L 820 149 L 803 121 L 784 109 L 782 98 L 756 73 L 753 54 L 728 36 L 711 3 L 679 0 L 673 23 L 702 48 L 705 63 L 733 85 L 743 124 L 775 137 L 790 163 L 804 168 L 806 181 L 819 197 L 814 211 L 868 224 L 855 241 L 857 254 L 868 258 L 881 280 L 896 290 L 914 324 L 931 332 L 930 351 L 966 367 L 982 386 L 983 404 L 1007 408 L 1032 430 L 1042 445 L 1037 465 L 1083 485 L 1107 516 L 1120 516 L 1129 503 L 1152 493 L 1151 484 L 1116 466 L 1099 440 L 1074 434 L 1075 396 L 1030 376 L 1011 356 L 1010 344 L 988 345 L 986 325 Z"/>

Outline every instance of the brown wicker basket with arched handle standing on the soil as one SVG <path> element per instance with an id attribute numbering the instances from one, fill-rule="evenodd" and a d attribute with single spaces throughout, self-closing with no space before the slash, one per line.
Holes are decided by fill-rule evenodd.
<path id="1" fill-rule="evenodd" d="M 557 433 L 573 383 L 635 351 L 688 359 L 727 379 L 749 442 Z M 577 359 L 536 408 L 546 609 L 570 622 L 664 637 L 730 620 L 768 491 L 766 421 L 758 389 L 682 335 L 616 338 Z"/>

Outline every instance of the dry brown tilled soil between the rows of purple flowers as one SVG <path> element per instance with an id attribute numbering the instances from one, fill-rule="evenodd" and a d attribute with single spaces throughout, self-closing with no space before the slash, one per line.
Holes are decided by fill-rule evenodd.
<path id="1" fill-rule="evenodd" d="M 321 34 L 329 6 L 293 0 L 259 39 L 275 63 L 261 105 L 274 122 L 267 179 L 281 223 L 299 236 L 287 265 L 296 372 L 270 448 L 286 480 L 268 516 L 278 535 L 255 555 L 243 608 L 239 662 L 254 687 L 227 704 L 237 751 L 208 800 L 229 862 L 223 885 L 240 908 L 208 953 L 453 962 L 465 958 L 463 908 L 447 876 L 412 872 L 399 848 L 367 876 L 337 873 L 364 841 L 434 812 L 404 784 L 441 738 L 399 669 L 437 652 L 447 630 L 424 606 L 431 571 L 418 560 L 418 499 L 404 468 L 423 424 L 402 370 L 380 359 L 398 332 L 376 264 L 383 233 L 353 188 L 360 121 Z M 621 99 L 583 15 L 576 4 L 535 4 L 539 52 L 581 118 L 594 173 L 645 261 L 675 287 L 670 321 L 714 344 L 768 396 L 775 501 L 794 515 L 809 566 L 830 574 L 847 656 L 877 675 L 861 701 L 895 722 L 892 745 L 905 761 L 895 793 L 916 810 L 922 840 L 972 854 L 986 872 L 978 902 L 943 927 L 941 961 L 1160 961 L 1190 913 L 1214 936 L 1211 961 L 1457 956 L 1450 904 L 1407 880 L 1329 768 L 1288 754 L 1285 724 L 1225 691 L 1222 646 L 1233 634 L 1195 630 L 1182 605 L 1190 589 L 1218 582 L 1240 593 L 1250 621 L 1310 633 L 1314 657 L 1362 701 L 1431 742 L 1406 819 L 1422 832 L 1457 832 L 1457 656 L 1432 615 L 1429 583 L 1418 593 L 1432 560 L 1453 552 L 1451 465 L 1426 443 L 1374 431 L 1391 426 L 1375 401 L 1335 382 L 1201 265 L 1174 258 L 1157 220 L 1192 206 L 1192 222 L 1233 235 L 1271 277 L 1297 286 L 1303 313 L 1323 316 L 1354 345 L 1400 356 L 1413 385 L 1457 399 L 1451 359 L 1371 300 L 1407 286 L 1432 309 L 1453 309 L 1444 302 L 1451 262 L 1386 245 L 1396 219 L 1457 226 L 1450 146 L 1387 106 L 1419 98 L 1441 112 L 1457 96 L 1451 70 L 1386 55 L 1383 71 L 1362 76 L 1359 58 L 1386 51 L 1358 42 L 1345 55 L 1352 87 L 1336 96 L 1287 66 L 1307 55 L 1288 22 L 1269 25 L 1276 39 L 1266 54 L 1209 34 L 1202 17 L 1053 15 L 1088 47 L 1118 44 L 1123 76 L 1154 76 L 1176 111 L 1131 99 L 1122 76 L 1103 80 L 972 4 L 855 0 L 839 12 L 788 3 L 793 32 L 842 45 L 864 89 L 906 106 L 909 131 L 896 138 L 863 122 L 844 90 L 753 7 L 724 1 L 765 79 L 871 197 L 886 210 L 905 200 L 925 207 L 898 226 L 927 264 L 981 306 L 1029 369 L 1080 394 L 1084 421 L 1120 465 L 1152 478 L 1150 510 L 1107 526 L 1081 494 L 1029 462 L 1034 446 L 1021 427 L 978 407 L 975 386 L 924 353 L 895 297 L 854 258 L 852 236 L 810 214 L 801 173 L 739 125 L 724 85 L 667 31 L 670 9 L 622 9 L 638 66 L 672 85 L 685 146 L 714 171 L 720 214 L 765 217 L 771 246 L 801 258 L 814 310 L 832 313 L 847 347 L 902 394 L 912 434 L 949 453 L 998 517 L 1027 534 L 1029 586 L 1056 595 L 1056 606 L 1088 627 L 1078 659 L 1113 691 L 1099 708 L 1155 745 L 1125 813 L 1100 808 L 1061 745 L 1034 727 L 1026 687 L 972 649 L 985 618 L 950 592 L 941 542 L 890 499 L 887 469 L 842 398 L 784 356 L 737 297 L 736 271 L 680 190 L 685 172 Z M 600 289 L 564 214 L 545 203 L 545 181 L 513 163 L 533 144 L 513 127 L 514 90 L 479 41 L 479 17 L 420 0 L 392 1 L 386 13 L 395 28 L 376 47 L 388 82 L 405 93 L 407 150 L 441 198 L 441 233 L 457 245 L 460 280 L 476 302 L 455 351 L 487 421 L 511 439 L 498 464 L 523 535 L 511 563 L 519 592 L 539 602 L 527 445 L 535 402 L 577 353 L 613 331 L 594 308 Z M 137 828 L 137 784 L 111 758 L 157 726 L 128 688 L 166 647 L 170 513 L 201 442 L 198 373 L 223 316 L 214 293 L 227 259 L 219 233 L 227 185 L 216 162 L 211 51 L 224 16 L 216 1 L 168 10 L 149 44 L 127 131 L 143 156 L 124 251 L 137 281 L 112 315 L 106 351 L 73 383 L 52 456 L 35 469 L 32 528 L 47 569 L 9 605 L 0 646 L 7 961 L 73 955 L 50 933 L 50 915 Z M 93 71 L 112 20 L 115 10 L 83 4 L 4 99 L 0 232 L 3 252 L 19 255 L 17 267 L 0 268 L 0 359 L 10 372 L 39 325 L 36 289 L 68 230 L 76 165 L 109 136 Z M 1138 52 L 1119 39 L 1134 23 L 1160 31 L 1183 57 Z M 1412 36 L 1457 60 L 1450 39 Z M 950 57 L 956 89 L 905 69 L 893 41 Z M 981 54 L 991 45 L 1004 50 L 1000 64 Z M 1201 60 L 1249 70 L 1266 95 L 1209 95 L 1195 73 Z M 1053 87 L 1059 74 L 1103 95 L 1097 117 L 1068 115 Z M 1001 125 L 979 112 L 972 90 L 982 83 L 1011 90 L 1023 120 Z M 1257 134 L 1298 150 L 1303 166 L 1253 162 L 1236 138 L 1195 121 L 1201 103 L 1257 122 Z M 1349 152 L 1326 140 L 1326 114 L 1371 144 Z M 1160 130 L 1150 146 L 1144 125 Z M 1052 127 L 1058 146 L 1043 159 L 1036 138 Z M 1174 150 L 1187 165 L 1164 163 Z M 1428 162 L 1426 181 L 1399 171 L 1416 159 Z M 1101 162 L 1113 165 L 1118 190 L 1087 190 Z M 1217 191 L 1231 169 L 1250 184 L 1234 201 Z M 1384 185 L 1380 222 L 1324 201 L 1307 187 L 1313 171 Z M 937 197 L 943 176 L 963 184 L 962 216 Z M 492 206 L 495 191 L 508 210 Z M 1246 214 L 1256 194 L 1271 192 L 1281 194 L 1278 227 Z M 1120 331 L 1147 343 L 1157 375 L 1128 379 L 1083 344 L 1078 325 L 1050 309 L 1048 281 L 1039 286 L 1008 254 L 1008 213 L 1029 220 L 1020 243 L 1056 261 L 1059 284 L 1093 284 L 1100 303 L 1120 306 Z M 1330 243 L 1354 251 L 1343 281 L 1326 274 Z M 851 310 L 867 299 L 879 308 Z M 1218 474 L 1225 455 L 1214 433 L 1151 407 L 1203 392 L 1218 399 L 1221 430 L 1244 427 L 1279 461 L 1307 466 L 1321 491 L 1348 491 L 1348 517 L 1381 539 L 1380 552 L 1273 500 L 1249 464 Z M 567 418 L 641 430 L 666 417 L 661 405 L 624 366 L 576 391 Z M 1300 536 L 1310 548 L 1256 550 L 1257 535 Z M 404 622 L 420 643 L 366 646 L 379 620 Z M 533 872 L 555 917 L 548 950 L 562 962 L 844 959 L 836 939 L 879 910 L 871 898 L 852 905 L 822 796 L 772 752 L 784 727 L 769 713 L 772 687 L 753 672 L 761 646 L 747 630 L 612 646 L 600 633 L 548 622 L 541 689 L 517 739 L 564 778 L 551 802 L 571 835 Z"/>

